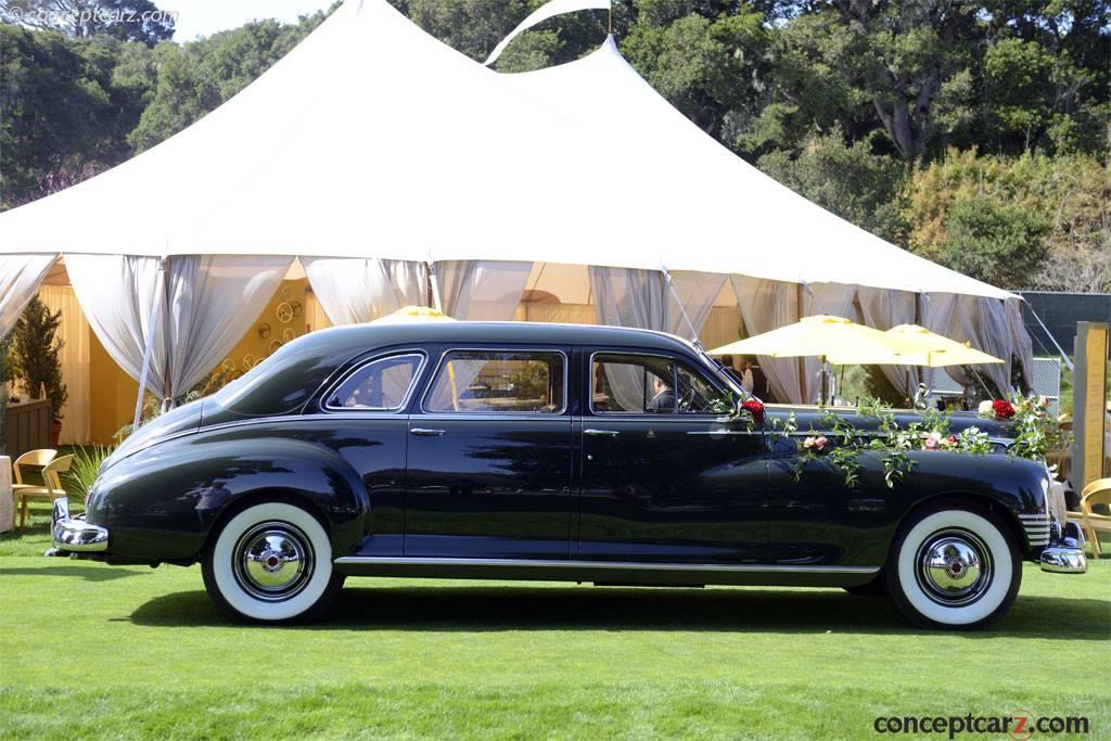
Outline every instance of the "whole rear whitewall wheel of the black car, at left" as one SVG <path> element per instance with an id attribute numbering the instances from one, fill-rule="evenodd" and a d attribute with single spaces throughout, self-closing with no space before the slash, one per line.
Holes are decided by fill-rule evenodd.
<path id="1" fill-rule="evenodd" d="M 283 502 L 254 504 L 228 520 L 202 564 L 204 588 L 224 612 L 246 622 L 308 622 L 334 599 L 328 533 L 308 511 Z"/>

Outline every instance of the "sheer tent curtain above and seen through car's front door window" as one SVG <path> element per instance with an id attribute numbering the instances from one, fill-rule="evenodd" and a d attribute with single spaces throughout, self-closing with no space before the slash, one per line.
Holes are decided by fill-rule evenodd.
<path id="1" fill-rule="evenodd" d="M 674 294 L 658 270 L 590 267 L 594 313 L 602 324 L 635 327 L 695 339 L 725 284 L 724 276 L 690 271 L 671 273 Z M 687 312 L 685 318 L 683 311 Z M 688 326 L 693 324 L 693 331 Z M 643 400 L 642 378 L 634 366 L 607 364 L 605 380 L 624 409 Z"/>

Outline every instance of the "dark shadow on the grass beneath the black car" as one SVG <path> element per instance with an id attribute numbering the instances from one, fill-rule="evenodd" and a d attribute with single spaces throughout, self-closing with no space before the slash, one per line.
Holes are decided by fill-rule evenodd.
<path id="1" fill-rule="evenodd" d="M 1111 640 L 1111 602 L 1019 597 L 1010 614 L 970 637 Z M 156 598 L 131 614 L 143 625 L 227 625 L 203 591 Z M 401 587 L 344 589 L 300 630 L 681 630 L 770 633 L 919 633 L 883 598 L 840 590 Z"/>

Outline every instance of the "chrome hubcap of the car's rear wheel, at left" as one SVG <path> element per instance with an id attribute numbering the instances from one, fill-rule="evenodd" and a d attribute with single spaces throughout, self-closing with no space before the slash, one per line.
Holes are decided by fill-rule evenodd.
<path id="1" fill-rule="evenodd" d="M 253 597 L 270 602 L 288 600 L 312 573 L 309 539 L 288 522 L 251 528 L 236 544 L 236 578 Z"/>

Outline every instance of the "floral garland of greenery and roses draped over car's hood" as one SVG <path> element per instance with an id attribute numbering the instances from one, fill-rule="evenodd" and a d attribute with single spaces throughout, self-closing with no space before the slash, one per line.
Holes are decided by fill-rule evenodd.
<path id="1" fill-rule="evenodd" d="M 1015 395 L 1011 400 L 985 401 L 980 404 L 978 412 L 988 419 L 1013 420 L 1014 442 L 1008 448 L 1007 454 L 1045 463 L 1048 451 L 1067 442 L 1067 433 L 1062 433 L 1057 422 L 1050 419 L 1048 407 L 1049 400 L 1045 397 Z M 851 421 L 828 408 L 823 407 L 821 410 L 825 429 L 819 432 L 811 428 L 801 441 L 794 412 L 785 420 L 772 418 L 769 425 L 768 431 L 777 441 L 785 440 L 795 445 L 795 480 L 802 478 L 807 463 L 821 460 L 841 471 L 845 485 L 853 488 L 860 481 L 860 455 L 865 451 L 874 451 L 882 454 L 884 483 L 888 488 L 894 488 L 917 463 L 909 455 L 911 451 L 937 450 L 982 455 L 994 449 L 989 434 L 977 427 L 951 432 L 949 413 L 934 409 L 920 410 L 918 421 L 901 427 L 893 410 L 884 408 L 879 399 L 868 399 L 860 403 L 857 413 L 879 420 L 874 433 L 858 429 Z M 745 420 L 749 431 L 763 427 L 763 403 L 758 399 L 748 399 L 732 407 L 729 419 L 741 418 Z"/>

